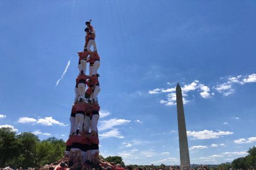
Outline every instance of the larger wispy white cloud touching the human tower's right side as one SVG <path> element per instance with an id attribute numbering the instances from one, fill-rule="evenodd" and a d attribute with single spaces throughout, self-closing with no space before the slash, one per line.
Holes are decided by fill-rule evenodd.
<path id="1" fill-rule="evenodd" d="M 120 126 L 129 122 L 130 120 L 127 120 L 127 119 L 116 119 L 116 118 L 103 120 L 103 121 L 100 121 L 100 126 L 98 127 L 98 129 L 100 131 L 105 131 L 106 129 L 112 129 L 114 126 Z"/>

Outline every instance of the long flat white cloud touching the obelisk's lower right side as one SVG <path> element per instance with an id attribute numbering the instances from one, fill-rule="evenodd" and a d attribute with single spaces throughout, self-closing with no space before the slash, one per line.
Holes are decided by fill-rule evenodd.
<path id="1" fill-rule="evenodd" d="M 215 138 L 219 138 L 220 136 L 224 136 L 224 135 L 230 135 L 233 134 L 233 132 L 229 132 L 229 131 L 218 131 L 218 132 L 214 132 L 214 131 L 208 131 L 208 130 L 204 130 L 204 131 L 187 131 L 187 136 L 192 136 L 195 139 L 215 139 Z"/>

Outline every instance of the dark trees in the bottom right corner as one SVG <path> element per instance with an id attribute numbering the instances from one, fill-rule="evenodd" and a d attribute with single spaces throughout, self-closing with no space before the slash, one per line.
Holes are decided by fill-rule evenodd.
<path id="1" fill-rule="evenodd" d="M 256 147 L 249 148 L 247 156 L 237 158 L 232 163 L 222 163 L 218 169 L 252 169 L 256 168 Z"/>

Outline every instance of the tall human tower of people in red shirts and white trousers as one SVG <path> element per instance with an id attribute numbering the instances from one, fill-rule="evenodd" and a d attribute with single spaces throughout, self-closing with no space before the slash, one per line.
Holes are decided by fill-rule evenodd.
<path id="1" fill-rule="evenodd" d="M 70 115 L 70 134 L 66 142 L 65 156 L 69 160 L 80 155 L 82 163 L 93 163 L 98 155 L 98 119 L 100 118 L 100 105 L 98 94 L 100 83 L 98 68 L 100 67 L 100 56 L 95 43 L 95 30 L 91 21 L 85 22 L 85 46 L 79 55 L 79 75 L 75 79 L 75 101 L 72 105 Z M 93 51 L 91 47 L 93 46 Z M 90 64 L 87 70 L 87 63 Z"/>

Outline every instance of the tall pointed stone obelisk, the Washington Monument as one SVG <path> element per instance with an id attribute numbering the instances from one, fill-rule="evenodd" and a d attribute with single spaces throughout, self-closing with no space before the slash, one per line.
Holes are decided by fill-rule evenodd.
<path id="1" fill-rule="evenodd" d="M 177 83 L 176 86 L 176 101 L 177 101 L 177 119 L 179 129 L 179 157 L 181 160 L 181 169 L 190 167 L 189 146 L 187 144 L 187 129 L 183 108 L 181 86 Z"/>

